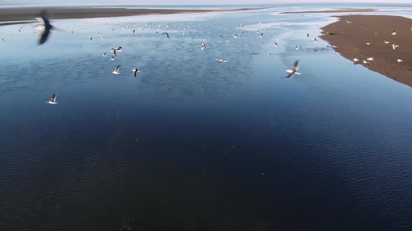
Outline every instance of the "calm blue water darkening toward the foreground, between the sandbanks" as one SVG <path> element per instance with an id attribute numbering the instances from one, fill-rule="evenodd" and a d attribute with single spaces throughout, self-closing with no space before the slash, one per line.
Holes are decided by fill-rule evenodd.
<path id="1" fill-rule="evenodd" d="M 411 88 L 284 10 L 1 26 L 0 230 L 411 230 Z"/>

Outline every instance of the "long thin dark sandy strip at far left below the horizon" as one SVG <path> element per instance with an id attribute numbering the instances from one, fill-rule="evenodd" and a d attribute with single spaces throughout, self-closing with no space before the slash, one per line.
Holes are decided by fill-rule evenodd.
<path id="1" fill-rule="evenodd" d="M 179 13 L 207 13 L 258 9 L 260 8 L 240 8 L 233 10 L 170 10 L 144 8 L 47 8 L 47 11 L 53 19 L 78 19 L 94 17 L 122 17 L 136 15 L 169 15 Z M 27 20 L 29 22 L 32 22 L 35 17 L 38 17 L 38 15 L 40 15 L 41 10 L 41 8 L 0 9 L 0 25 L 10 24 L 10 22 L 13 21 Z"/>

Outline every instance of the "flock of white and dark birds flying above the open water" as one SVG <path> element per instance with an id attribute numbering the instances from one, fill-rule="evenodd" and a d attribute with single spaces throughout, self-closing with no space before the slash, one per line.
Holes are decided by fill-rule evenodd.
<path id="1" fill-rule="evenodd" d="M 57 27 L 52 26 L 52 24 L 50 24 L 50 19 L 49 19 L 48 14 L 47 14 L 47 12 L 46 12 L 45 10 L 42 10 L 42 11 L 41 11 L 41 17 L 36 17 L 36 19 L 37 19 L 38 22 L 39 22 L 39 25 L 36 26 L 36 28 L 40 30 L 40 33 L 39 33 L 39 34 L 40 34 L 40 37 L 39 37 L 39 39 L 38 39 L 38 44 L 39 44 L 39 45 L 43 45 L 43 43 L 46 42 L 47 38 L 49 38 L 50 31 L 52 31 L 52 30 L 61 31 L 61 29 L 58 29 Z M 242 24 L 240 24 L 240 26 L 242 26 L 242 28 L 244 27 Z M 167 26 L 167 27 L 168 27 L 168 26 Z M 190 27 L 188 26 L 188 28 L 190 28 Z M 113 30 L 113 29 L 112 29 L 112 30 Z M 263 30 L 265 30 L 265 29 L 263 29 Z M 133 29 L 132 32 L 135 33 L 135 29 Z M 72 31 L 71 33 L 73 33 L 73 31 Z M 158 29 L 158 31 L 156 31 L 156 33 L 159 33 L 159 29 Z M 242 33 L 244 33 L 244 31 L 242 31 Z M 263 38 L 263 33 L 261 33 L 260 31 L 257 31 L 257 33 L 260 33 L 259 38 Z M 170 38 L 170 35 L 169 35 L 169 33 L 167 33 L 167 32 L 161 33 L 161 37 L 162 37 L 163 35 L 165 35 L 167 38 Z M 221 35 L 221 37 L 223 37 L 223 36 Z M 228 37 L 228 33 L 226 33 L 226 37 Z M 233 35 L 233 38 L 237 38 L 237 37 L 238 37 L 237 34 Z M 307 37 L 309 37 L 309 33 L 307 34 Z M 89 39 L 90 39 L 90 40 L 93 40 L 92 37 L 89 37 Z M 316 38 L 312 38 L 312 40 L 314 40 L 314 42 L 317 42 Z M 226 42 L 227 42 L 227 43 L 230 43 L 230 40 L 226 40 Z M 275 47 L 279 47 L 279 45 L 277 44 L 277 42 L 274 43 L 274 46 L 275 46 Z M 199 49 L 199 48 L 200 48 L 200 49 L 206 49 L 206 48 L 207 48 L 207 45 L 206 45 L 204 42 L 202 42 L 201 45 L 199 45 L 197 48 L 198 48 L 198 49 Z M 300 50 L 300 49 L 302 49 L 302 46 L 300 46 L 300 47 L 295 46 L 295 49 L 296 49 L 296 50 Z M 116 47 L 116 48 L 110 49 L 110 52 L 112 52 L 112 53 L 114 54 L 114 55 L 111 57 L 111 60 L 114 61 L 114 60 L 115 60 L 115 56 L 117 56 L 117 53 L 118 53 L 118 52 L 122 52 L 122 51 L 123 51 L 123 48 L 122 48 L 122 47 Z M 103 56 L 103 57 L 107 56 L 107 52 L 104 52 L 104 53 L 102 54 L 102 56 Z M 228 63 L 228 61 L 227 61 L 227 60 L 224 60 L 224 59 L 219 59 L 219 60 L 216 60 L 216 63 Z M 117 65 L 117 67 L 115 67 L 115 70 L 112 72 L 112 74 L 121 74 L 121 72 L 120 72 L 120 67 L 121 67 L 120 65 Z M 293 64 L 292 69 L 291 69 L 291 70 L 286 70 L 286 72 L 288 72 L 287 78 L 293 77 L 295 74 L 300 75 L 301 73 L 298 72 L 299 68 L 300 68 L 299 61 L 295 61 L 295 63 Z M 132 70 L 132 72 L 133 72 L 134 77 L 136 77 L 137 74 L 138 74 L 138 72 L 140 72 L 140 70 L 138 70 L 138 67 L 135 67 L 135 68 Z M 47 101 L 47 103 L 48 103 L 48 104 L 57 104 L 56 94 L 54 94 L 54 95 L 52 96 L 52 99 L 50 99 L 50 101 Z"/>

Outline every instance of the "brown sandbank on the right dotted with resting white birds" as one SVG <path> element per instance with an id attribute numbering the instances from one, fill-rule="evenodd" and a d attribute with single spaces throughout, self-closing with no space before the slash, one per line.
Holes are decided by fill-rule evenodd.
<path id="1" fill-rule="evenodd" d="M 323 27 L 323 40 L 336 46 L 341 56 L 351 61 L 358 58 L 360 65 L 412 86 L 412 19 L 387 15 L 337 17 L 338 22 Z M 394 30 L 396 35 L 392 35 Z M 384 40 L 389 43 L 385 44 Z M 399 47 L 394 50 L 392 45 Z M 362 64 L 362 60 L 369 57 L 374 57 L 374 61 Z M 403 62 L 398 63 L 398 58 Z"/>

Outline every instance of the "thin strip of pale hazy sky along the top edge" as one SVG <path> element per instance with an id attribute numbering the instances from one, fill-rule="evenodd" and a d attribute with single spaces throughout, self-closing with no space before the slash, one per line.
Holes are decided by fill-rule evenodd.
<path id="1" fill-rule="evenodd" d="M 253 4 L 253 3 L 412 3 L 412 0 L 207 0 L 207 1 L 195 1 L 195 0 L 0 0 L 1 5 L 71 5 L 71 4 L 187 4 L 187 5 L 199 5 L 199 4 Z"/>

